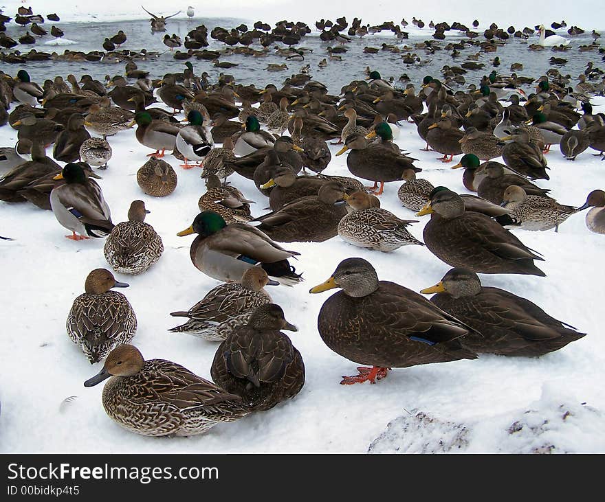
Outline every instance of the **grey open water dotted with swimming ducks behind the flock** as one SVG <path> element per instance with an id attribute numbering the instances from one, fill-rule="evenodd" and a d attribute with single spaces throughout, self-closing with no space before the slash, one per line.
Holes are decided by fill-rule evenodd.
<path id="1" fill-rule="evenodd" d="M 241 19 L 168 19 L 166 25 L 166 32 L 152 33 L 150 23 L 147 20 L 138 21 L 119 21 L 119 22 L 103 22 L 103 23 L 56 23 L 58 27 L 65 32 L 64 38 L 74 41 L 73 45 L 64 46 L 50 46 L 44 45 L 45 42 L 54 41 L 54 38 L 50 35 L 43 37 L 42 39 L 36 40 L 36 45 L 18 45 L 14 49 L 21 50 L 25 53 L 34 48 L 39 52 L 57 52 L 63 54 L 65 49 L 71 51 L 83 51 L 89 52 L 92 50 L 102 50 L 102 43 L 104 38 L 111 37 L 116 34 L 118 30 L 123 30 L 128 36 L 128 40 L 122 46 L 123 49 L 131 49 L 133 51 L 139 51 L 142 48 L 148 50 L 148 52 L 159 52 L 157 58 L 137 61 L 137 65 L 140 69 L 145 69 L 150 72 L 152 78 L 161 78 L 164 73 L 168 72 L 179 72 L 184 68 L 184 61 L 175 60 L 173 53 L 168 50 L 166 45 L 162 43 L 164 34 L 177 34 L 184 41 L 186 34 L 192 30 L 195 26 L 205 24 L 208 27 L 208 32 L 212 30 L 212 27 L 222 26 L 227 29 L 235 27 L 243 22 Z M 250 29 L 252 29 L 252 22 L 244 21 Z M 44 27 L 50 32 L 51 23 L 45 23 Z M 26 28 L 19 27 L 17 25 L 8 25 L 7 34 L 12 36 L 15 40 L 25 33 Z M 481 32 L 481 31 L 480 31 Z M 567 36 L 564 31 L 560 34 Z M 426 75 L 432 75 L 435 78 L 439 78 L 439 70 L 443 65 L 461 65 L 467 56 L 478 52 L 477 47 L 467 47 L 461 50 L 461 55 L 457 58 L 450 56 L 450 51 L 436 51 L 434 54 L 428 54 L 423 49 L 414 49 L 415 43 L 421 43 L 425 40 L 430 39 L 432 30 L 427 28 L 424 30 L 416 30 L 416 32 L 410 32 L 410 38 L 404 43 L 397 43 L 395 36 L 391 35 L 391 32 L 382 32 L 382 34 L 367 35 L 363 38 L 353 37 L 353 41 L 347 44 L 349 51 L 347 54 L 343 54 L 343 60 L 330 61 L 328 60 L 328 66 L 325 69 L 318 68 L 318 62 L 323 58 L 328 58 L 327 47 L 339 45 L 335 41 L 325 43 L 322 42 L 318 36 L 318 32 L 314 30 L 312 34 L 305 36 L 301 42 L 300 47 L 308 47 L 313 49 L 313 52 L 305 55 L 304 61 L 287 61 L 283 56 L 276 54 L 274 49 L 270 49 L 267 56 L 263 57 L 251 57 L 243 56 L 239 54 L 232 54 L 230 56 L 221 56 L 221 61 L 229 61 L 238 63 L 239 66 L 231 69 L 220 69 L 214 67 L 210 61 L 197 60 L 190 58 L 190 62 L 195 69 L 195 73 L 198 75 L 202 71 L 207 71 L 210 75 L 211 81 L 215 82 L 220 73 L 229 73 L 233 75 L 236 82 L 242 84 L 256 84 L 257 87 L 264 87 L 265 84 L 273 82 L 275 84 L 281 84 L 285 78 L 291 76 L 294 73 L 298 73 L 303 65 L 311 65 L 310 74 L 314 80 L 319 80 L 327 85 L 331 93 L 338 93 L 340 88 L 349 83 L 354 79 L 364 78 L 364 69 L 371 67 L 380 71 L 383 78 L 393 77 L 395 78 L 396 87 L 404 87 L 404 83 L 399 83 L 397 80 L 403 73 L 407 73 L 410 77 L 411 82 L 418 84 L 422 78 Z M 460 32 L 450 31 L 446 32 L 446 38 L 444 41 L 439 41 L 441 47 L 445 47 L 450 42 L 459 41 L 461 38 L 465 38 Z M 476 38 L 476 40 L 483 41 L 483 36 Z M 557 68 L 562 74 L 569 73 L 573 79 L 577 78 L 577 75 L 584 71 L 588 61 L 593 61 L 595 66 L 601 61 L 601 54 L 596 50 L 592 52 L 580 52 L 578 47 L 580 45 L 588 45 L 593 41 L 589 32 L 582 36 L 576 36 L 571 38 L 571 49 L 566 52 L 553 52 L 552 49 L 545 48 L 540 52 L 533 52 L 527 49 L 530 43 L 537 43 L 538 36 L 529 38 L 529 41 L 520 41 L 516 38 L 510 38 L 507 43 L 498 48 L 497 52 L 493 53 L 481 53 L 478 62 L 483 62 L 485 68 L 478 71 L 468 71 L 465 74 L 466 87 L 470 83 L 478 84 L 481 80 L 481 76 L 492 71 L 493 67 L 491 60 L 495 56 L 499 56 L 501 65 L 496 68 L 499 73 L 507 74 L 510 73 L 510 65 L 512 62 L 521 62 L 524 65 L 522 71 L 518 71 L 519 75 L 537 77 L 546 73 L 550 68 L 549 58 L 551 56 L 566 58 L 568 62 L 566 65 L 558 66 Z M 207 49 L 224 49 L 226 46 L 223 43 L 209 39 L 210 47 Z M 407 50 L 404 50 L 401 54 L 392 54 L 388 51 L 380 51 L 377 54 L 364 54 L 363 49 L 366 46 L 381 47 L 382 43 L 388 43 L 397 45 L 397 47 L 404 50 L 404 46 L 410 47 L 412 54 L 416 53 L 421 58 L 420 65 L 405 65 L 402 60 L 402 54 L 405 54 Z M 285 47 L 279 44 L 280 47 Z M 261 49 L 259 43 L 252 45 L 254 49 Z M 186 52 L 184 47 L 179 49 Z M 9 52 L 8 49 L 3 49 L 3 52 Z M 269 63 L 282 64 L 286 62 L 288 69 L 278 73 L 265 71 L 265 68 Z M 101 81 L 104 80 L 104 76 L 113 76 L 115 74 L 124 73 L 125 62 L 120 63 L 108 63 L 108 62 L 63 62 L 63 61 L 43 61 L 43 62 L 28 62 L 25 65 L 11 65 L 5 62 L 0 62 L 0 69 L 5 73 L 16 75 L 18 69 L 25 67 L 28 69 L 32 80 L 36 82 L 43 82 L 46 78 L 52 78 L 56 75 L 62 75 L 64 78 L 69 73 L 74 73 L 76 76 L 81 76 L 84 73 L 89 73 L 94 78 Z M 526 91 L 533 91 L 531 88 L 526 88 Z"/>

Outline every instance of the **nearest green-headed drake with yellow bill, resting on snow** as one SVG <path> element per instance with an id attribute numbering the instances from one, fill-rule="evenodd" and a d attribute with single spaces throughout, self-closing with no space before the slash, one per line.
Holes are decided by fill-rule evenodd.
<path id="1" fill-rule="evenodd" d="M 300 255 L 287 251 L 259 229 L 243 223 L 227 225 L 212 211 L 198 214 L 187 229 L 177 236 L 197 233 L 191 243 L 190 257 L 195 267 L 219 281 L 238 281 L 245 269 L 261 265 L 267 275 L 280 284 L 292 286 L 303 279 L 287 260 Z"/>

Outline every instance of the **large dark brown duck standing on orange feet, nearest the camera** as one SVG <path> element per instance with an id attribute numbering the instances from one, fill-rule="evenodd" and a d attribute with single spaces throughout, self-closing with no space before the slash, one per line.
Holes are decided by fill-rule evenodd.
<path id="1" fill-rule="evenodd" d="M 399 284 L 379 281 L 374 267 L 362 258 L 347 258 L 331 277 L 309 293 L 341 291 L 327 299 L 317 326 L 324 343 L 337 354 L 371 368 L 341 384 L 381 380 L 392 367 L 475 359 L 461 337 L 472 328 L 427 299 Z"/>

